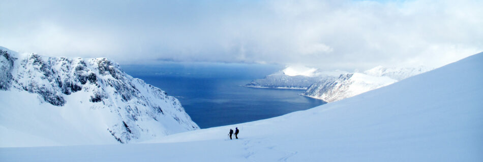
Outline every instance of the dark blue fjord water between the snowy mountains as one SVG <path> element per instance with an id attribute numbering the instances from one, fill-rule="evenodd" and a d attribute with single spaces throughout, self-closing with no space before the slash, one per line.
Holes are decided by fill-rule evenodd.
<path id="1" fill-rule="evenodd" d="M 298 95 L 303 90 L 243 87 L 282 69 L 279 65 L 170 62 L 122 68 L 176 97 L 200 128 L 265 119 L 325 104 Z"/>

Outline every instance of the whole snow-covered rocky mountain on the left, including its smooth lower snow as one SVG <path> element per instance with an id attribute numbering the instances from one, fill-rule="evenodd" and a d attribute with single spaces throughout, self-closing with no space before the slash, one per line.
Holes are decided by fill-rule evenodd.
<path id="1" fill-rule="evenodd" d="M 1 146 L 128 143 L 199 129 L 176 98 L 106 58 L 0 48 L 0 69 Z"/>

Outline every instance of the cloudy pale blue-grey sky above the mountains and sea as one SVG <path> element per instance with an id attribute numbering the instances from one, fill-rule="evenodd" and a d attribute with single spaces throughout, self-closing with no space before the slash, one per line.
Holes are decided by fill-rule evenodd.
<path id="1" fill-rule="evenodd" d="M 483 51 L 483 1 L 5 1 L 0 46 L 120 64 L 439 67 Z"/>

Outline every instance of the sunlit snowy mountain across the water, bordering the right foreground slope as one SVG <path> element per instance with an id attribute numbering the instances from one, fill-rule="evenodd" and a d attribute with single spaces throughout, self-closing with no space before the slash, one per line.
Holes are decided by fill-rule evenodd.
<path id="1" fill-rule="evenodd" d="M 321 99 L 325 102 L 334 102 L 395 82 L 397 80 L 386 76 L 376 77 L 363 73 L 348 73 L 340 75 L 335 80 L 315 83 L 300 95 Z"/>

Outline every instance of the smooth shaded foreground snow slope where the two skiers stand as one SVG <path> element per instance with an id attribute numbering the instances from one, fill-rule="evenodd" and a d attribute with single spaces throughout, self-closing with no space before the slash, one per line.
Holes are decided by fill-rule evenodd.
<path id="1" fill-rule="evenodd" d="M 483 53 L 309 110 L 163 143 L 0 148 L 2 161 L 481 161 Z M 241 129 L 226 140 L 229 128 Z"/>

